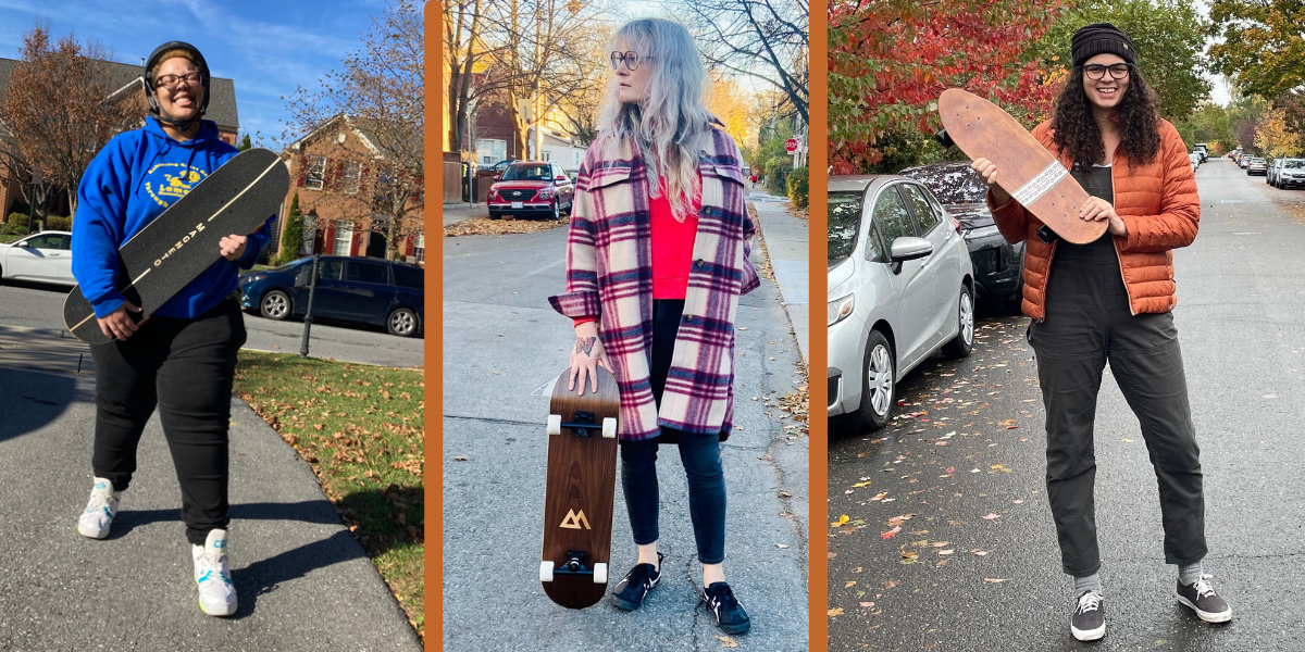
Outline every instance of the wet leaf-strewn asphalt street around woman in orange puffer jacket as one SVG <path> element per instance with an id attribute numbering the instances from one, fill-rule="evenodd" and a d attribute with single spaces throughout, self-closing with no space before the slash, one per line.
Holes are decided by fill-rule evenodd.
<path id="1" fill-rule="evenodd" d="M 1174 252 L 1174 310 L 1206 489 L 1206 572 L 1233 609 L 1174 600 L 1156 480 L 1107 368 L 1096 520 L 1107 635 L 1096 649 L 1300 651 L 1305 599 L 1305 192 L 1227 159 L 1197 171 L 1195 243 Z M 934 357 L 877 433 L 831 436 L 829 649 L 1079 649 L 1045 499 L 1045 434 L 1026 317 L 979 323 Z"/>

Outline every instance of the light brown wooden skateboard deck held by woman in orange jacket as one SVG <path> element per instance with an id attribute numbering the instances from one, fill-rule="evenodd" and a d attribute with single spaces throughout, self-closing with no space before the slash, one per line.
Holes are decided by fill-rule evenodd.
<path id="1" fill-rule="evenodd" d="M 938 98 L 938 115 L 960 150 L 971 159 L 992 160 L 997 184 L 1056 235 L 1087 244 L 1105 232 L 1107 220 L 1083 222 L 1078 216 L 1090 197 L 1087 190 L 1001 107 L 972 93 L 947 89 Z"/>

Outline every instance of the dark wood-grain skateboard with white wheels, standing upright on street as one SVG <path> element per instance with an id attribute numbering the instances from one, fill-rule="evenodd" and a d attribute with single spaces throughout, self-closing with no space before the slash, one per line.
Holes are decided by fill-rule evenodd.
<path id="1" fill-rule="evenodd" d="M 553 602 L 583 609 L 607 593 L 621 396 L 616 377 L 603 368 L 598 368 L 596 394 L 586 385 L 581 396 L 566 389 L 569 383 L 566 369 L 557 377 L 548 402 L 539 580 Z"/>

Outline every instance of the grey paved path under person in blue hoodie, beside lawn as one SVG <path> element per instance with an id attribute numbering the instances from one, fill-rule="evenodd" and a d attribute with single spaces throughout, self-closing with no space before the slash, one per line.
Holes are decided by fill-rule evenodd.
<path id="1" fill-rule="evenodd" d="M 312 469 L 244 402 L 232 398 L 231 412 L 240 608 L 210 618 L 158 417 L 112 533 L 95 541 L 76 531 L 91 486 L 94 378 L 0 368 L 0 651 L 420 649 Z"/>

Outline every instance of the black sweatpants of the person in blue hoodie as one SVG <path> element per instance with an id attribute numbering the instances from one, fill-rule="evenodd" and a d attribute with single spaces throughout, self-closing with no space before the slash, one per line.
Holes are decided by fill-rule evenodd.
<path id="1" fill-rule="evenodd" d="M 236 353 L 245 342 L 240 305 L 223 300 L 194 319 L 151 317 L 125 342 L 90 347 L 95 360 L 97 477 L 124 490 L 154 408 L 181 484 L 185 537 L 204 545 L 227 518 L 227 428 Z"/>

